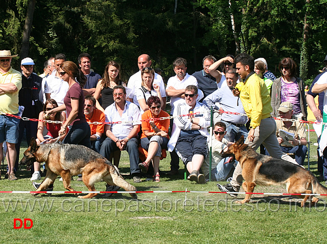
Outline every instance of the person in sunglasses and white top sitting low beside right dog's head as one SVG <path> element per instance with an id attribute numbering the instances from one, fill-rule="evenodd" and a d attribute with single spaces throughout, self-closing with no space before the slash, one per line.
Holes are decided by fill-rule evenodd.
<path id="1" fill-rule="evenodd" d="M 201 167 L 205 178 L 209 178 L 209 172 L 211 172 L 212 180 L 220 181 L 226 180 L 230 170 L 234 168 L 234 164 L 229 162 L 230 157 L 224 158 L 223 152 L 226 152 L 228 146 L 233 144 L 228 142 L 224 136 L 226 134 L 226 124 L 224 122 L 217 122 L 214 127 L 213 145 L 212 145 L 212 164 L 211 171 L 209 170 L 210 156 L 208 155 Z"/>

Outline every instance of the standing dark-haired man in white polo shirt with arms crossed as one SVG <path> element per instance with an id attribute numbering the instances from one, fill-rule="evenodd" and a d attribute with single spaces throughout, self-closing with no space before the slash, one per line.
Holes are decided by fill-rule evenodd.
<path id="1" fill-rule="evenodd" d="M 171 105 L 171 112 L 170 114 L 173 115 L 175 106 L 177 104 L 185 102 L 185 88 L 189 85 L 197 86 L 198 82 L 196 78 L 192 75 L 186 73 L 187 62 L 183 58 L 177 58 L 174 63 L 174 72 L 175 76 L 170 77 L 167 82 L 166 94 L 170 98 L 170 105 Z M 174 130 L 174 119 L 170 120 L 170 130 Z M 179 169 L 179 157 L 176 154 L 175 150 L 170 151 L 170 171 L 168 172 L 169 175 L 177 175 Z"/>

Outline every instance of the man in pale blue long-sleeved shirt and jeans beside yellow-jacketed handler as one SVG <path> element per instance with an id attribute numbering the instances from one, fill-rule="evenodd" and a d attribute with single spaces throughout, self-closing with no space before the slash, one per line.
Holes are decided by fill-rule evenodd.
<path id="1" fill-rule="evenodd" d="M 214 107 L 216 110 L 245 114 L 242 101 L 232 93 L 239 79 L 236 69 L 227 70 L 225 76 L 227 86 L 208 95 L 204 98 L 203 103 L 209 108 Z M 220 104 L 219 107 L 215 105 L 217 102 Z M 221 115 L 221 121 L 226 124 L 225 139 L 228 142 L 238 141 L 242 135 L 244 138 L 247 138 L 248 131 L 245 127 L 247 116 L 223 113 Z"/>

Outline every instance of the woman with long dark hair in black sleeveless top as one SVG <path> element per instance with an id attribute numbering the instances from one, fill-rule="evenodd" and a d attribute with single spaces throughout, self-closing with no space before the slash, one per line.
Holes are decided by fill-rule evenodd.
<path id="1" fill-rule="evenodd" d="M 111 105 L 113 100 L 112 88 L 118 85 L 126 87 L 121 80 L 121 66 L 115 61 L 109 61 L 104 69 L 103 78 L 99 80 L 94 97 L 99 100 L 102 97 L 102 105 L 97 102 L 97 109 L 104 112 L 107 106 Z"/>

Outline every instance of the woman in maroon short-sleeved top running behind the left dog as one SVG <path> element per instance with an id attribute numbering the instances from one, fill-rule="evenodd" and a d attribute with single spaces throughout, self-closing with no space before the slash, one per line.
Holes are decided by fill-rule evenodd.
<path id="1" fill-rule="evenodd" d="M 68 83 L 69 88 L 63 100 L 64 104 L 48 111 L 48 113 L 52 114 L 66 110 L 67 120 L 59 130 L 59 135 L 63 135 L 66 133 L 67 127 L 69 128 L 64 143 L 84 145 L 91 148 L 91 130 L 84 115 L 84 94 L 82 90 L 86 83 L 86 77 L 72 61 L 63 62 L 60 65 L 59 74 Z"/>

